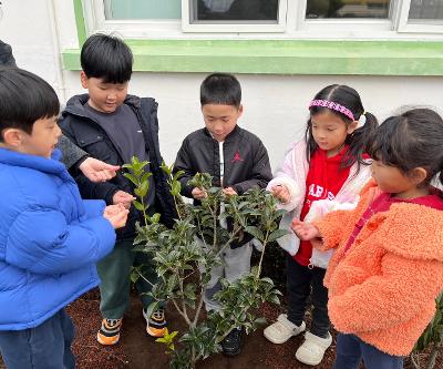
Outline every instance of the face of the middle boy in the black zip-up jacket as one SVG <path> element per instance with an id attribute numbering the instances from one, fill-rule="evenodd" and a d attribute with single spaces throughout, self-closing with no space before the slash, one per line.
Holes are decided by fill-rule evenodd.
<path id="1" fill-rule="evenodd" d="M 223 142 L 236 127 L 237 120 L 243 113 L 243 106 L 205 104 L 202 106 L 202 113 L 206 129 L 215 140 Z"/>

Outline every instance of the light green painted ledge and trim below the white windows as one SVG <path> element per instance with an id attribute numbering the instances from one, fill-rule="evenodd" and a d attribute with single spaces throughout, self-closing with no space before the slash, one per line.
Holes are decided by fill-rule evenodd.
<path id="1" fill-rule="evenodd" d="M 79 44 L 62 50 L 66 71 L 80 71 L 81 47 L 87 35 L 87 12 L 82 0 L 72 0 Z M 295 7 L 295 3 L 291 4 Z M 291 11 L 291 10 L 288 10 Z M 92 13 L 90 13 L 92 14 Z M 59 14 L 65 17 L 65 13 Z M 293 27 L 292 27 L 293 25 Z M 90 25 L 91 27 L 91 25 Z M 288 24 L 296 29 L 295 22 Z M 109 30 L 107 30 L 109 31 Z M 396 39 L 254 38 L 228 33 L 181 33 L 181 38 L 125 38 L 136 72 L 253 73 L 291 75 L 411 75 L 443 76 L 443 39 L 436 34 Z M 212 37 L 209 37 L 212 35 Z M 234 37 L 233 37 L 234 35 Z M 289 34 L 290 35 L 290 34 Z"/>

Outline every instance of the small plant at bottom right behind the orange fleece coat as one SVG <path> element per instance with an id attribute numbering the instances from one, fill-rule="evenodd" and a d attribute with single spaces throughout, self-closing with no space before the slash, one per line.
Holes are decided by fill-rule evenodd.
<path id="1" fill-rule="evenodd" d="M 431 348 L 431 353 L 427 361 L 424 363 L 425 369 L 432 369 L 435 367 L 435 360 L 443 345 L 443 293 L 435 300 L 436 312 L 427 328 L 424 330 L 422 336 L 415 344 L 414 350 L 411 353 L 411 360 L 416 369 L 421 367 L 420 355 L 421 351 L 426 348 Z"/>

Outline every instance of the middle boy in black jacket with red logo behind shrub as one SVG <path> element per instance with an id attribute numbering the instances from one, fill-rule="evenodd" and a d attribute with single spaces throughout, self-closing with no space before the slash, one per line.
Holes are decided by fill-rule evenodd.
<path id="1" fill-rule="evenodd" d="M 206 193 L 187 182 L 197 173 L 209 173 L 213 184 L 224 188 L 226 195 L 243 194 L 254 186 L 265 188 L 272 178 L 269 157 L 261 141 L 240 129 L 237 120 L 243 113 L 241 88 L 230 74 L 208 75 L 200 86 L 202 112 L 205 129 L 190 133 L 182 144 L 174 172 L 184 171 L 179 177 L 182 195 L 200 201 Z M 214 268 L 204 296 L 207 310 L 219 305 L 213 296 L 222 289 L 222 277 L 234 281 L 250 270 L 253 246 L 246 243 L 224 253 L 225 265 Z M 240 352 L 241 331 L 234 329 L 222 342 L 228 356 Z"/>

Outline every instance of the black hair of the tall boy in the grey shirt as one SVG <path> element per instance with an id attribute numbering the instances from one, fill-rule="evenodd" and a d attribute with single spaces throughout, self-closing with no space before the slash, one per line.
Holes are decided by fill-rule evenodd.
<path id="1" fill-rule="evenodd" d="M 123 40 L 103 33 L 87 38 L 80 54 L 86 76 L 103 79 L 105 83 L 130 81 L 133 61 L 132 51 Z"/>

